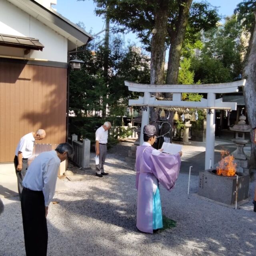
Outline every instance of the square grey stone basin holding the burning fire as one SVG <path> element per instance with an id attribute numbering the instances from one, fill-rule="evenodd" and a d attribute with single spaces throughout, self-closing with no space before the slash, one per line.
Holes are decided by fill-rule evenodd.
<path id="1" fill-rule="evenodd" d="M 199 173 L 198 195 L 223 204 L 236 202 L 236 176 L 220 176 L 215 174 L 215 168 Z M 237 202 L 248 198 L 250 174 L 237 172 L 238 198 Z"/>

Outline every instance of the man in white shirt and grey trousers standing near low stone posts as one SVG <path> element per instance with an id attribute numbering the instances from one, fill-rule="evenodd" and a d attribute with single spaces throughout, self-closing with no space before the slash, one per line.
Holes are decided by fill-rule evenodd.
<path id="1" fill-rule="evenodd" d="M 95 132 L 96 143 L 95 151 L 96 155 L 99 156 L 99 164 L 96 165 L 96 176 L 103 177 L 103 175 L 108 175 L 104 172 L 104 163 L 107 154 L 107 143 L 108 143 L 108 130 L 111 128 L 110 122 L 105 122 L 100 128 Z"/>

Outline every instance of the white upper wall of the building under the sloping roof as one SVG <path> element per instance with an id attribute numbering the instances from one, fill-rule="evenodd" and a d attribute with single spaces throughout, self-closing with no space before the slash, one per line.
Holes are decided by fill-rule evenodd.
<path id="1" fill-rule="evenodd" d="M 31 50 L 27 55 L 1 46 L 0 55 L 13 53 L 12 56 L 67 62 L 68 40 L 5 0 L 0 0 L 0 34 L 32 37 L 44 45 L 42 52 Z"/>

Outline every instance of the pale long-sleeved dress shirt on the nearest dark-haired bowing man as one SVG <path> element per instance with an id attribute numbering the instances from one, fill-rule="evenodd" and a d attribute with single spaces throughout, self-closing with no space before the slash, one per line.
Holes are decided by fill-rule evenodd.
<path id="1" fill-rule="evenodd" d="M 44 204 L 48 206 L 54 196 L 60 158 L 55 150 L 43 152 L 28 167 L 22 185 L 44 193 Z"/>

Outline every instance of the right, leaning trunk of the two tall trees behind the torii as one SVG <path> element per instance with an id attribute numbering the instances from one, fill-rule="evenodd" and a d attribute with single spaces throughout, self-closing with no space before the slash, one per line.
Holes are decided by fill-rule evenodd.
<path id="1" fill-rule="evenodd" d="M 170 28 L 168 30 L 171 46 L 170 46 L 169 58 L 168 58 L 166 84 L 178 83 L 180 54 L 181 54 L 182 42 L 184 40 L 184 36 L 186 32 L 186 26 L 188 23 L 189 9 L 190 9 L 191 3 L 192 3 L 192 0 L 181 1 L 181 3 L 179 4 L 178 22 L 175 26 L 175 29 Z M 169 98 L 170 95 L 167 97 Z"/>

